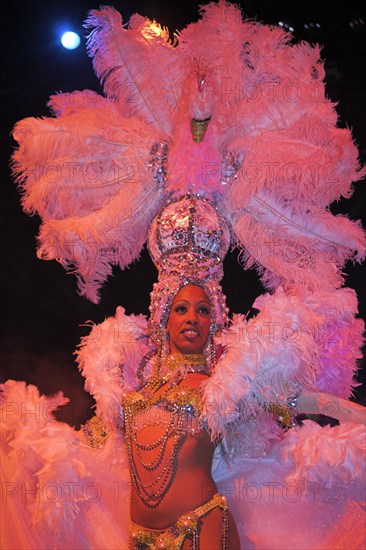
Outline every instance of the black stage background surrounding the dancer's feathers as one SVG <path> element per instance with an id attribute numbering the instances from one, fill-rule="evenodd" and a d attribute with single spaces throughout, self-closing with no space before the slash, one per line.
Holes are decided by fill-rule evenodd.
<path id="1" fill-rule="evenodd" d="M 70 28 L 84 36 L 83 20 L 100 4 L 114 6 L 124 21 L 138 12 L 155 18 L 170 31 L 195 21 L 199 5 L 192 0 L 13 0 L 1 8 L 1 381 L 26 380 L 48 394 L 62 389 L 71 404 L 61 416 L 76 425 L 90 416 L 92 404 L 82 390 L 83 380 L 73 359 L 80 337 L 88 332 L 83 323 L 101 322 L 113 315 L 118 304 L 126 307 L 127 313 L 147 314 L 156 272 L 143 251 L 139 263 L 125 272 L 115 271 L 103 288 L 99 305 L 79 297 L 73 275 L 67 275 L 56 262 L 36 258 L 39 220 L 21 210 L 9 157 L 15 147 L 11 138 L 15 122 L 27 116 L 49 115 L 46 103 L 51 94 L 85 88 L 100 91 L 84 41 L 74 51 L 59 43 L 61 32 Z M 282 20 L 292 25 L 295 41 L 323 45 L 328 96 L 339 102 L 339 124 L 352 128 L 365 162 L 366 14 L 361 2 L 253 0 L 239 4 L 251 19 L 271 24 Z M 362 182 L 350 200 L 340 201 L 332 210 L 348 212 L 352 219 L 365 223 L 365 206 Z M 346 273 L 346 284 L 357 290 L 360 315 L 365 319 L 365 267 L 347 265 Z M 225 261 L 223 288 L 231 311 L 242 313 L 262 292 L 255 272 L 244 272 L 235 252 Z M 355 393 L 355 399 L 364 403 L 365 370 L 365 362 L 360 363 L 358 377 L 363 384 Z"/>

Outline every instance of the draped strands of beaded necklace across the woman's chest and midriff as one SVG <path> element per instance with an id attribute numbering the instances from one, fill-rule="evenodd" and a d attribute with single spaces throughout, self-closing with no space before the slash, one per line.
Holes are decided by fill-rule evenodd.
<path id="1" fill-rule="evenodd" d="M 179 451 L 187 438 L 184 429 L 184 418 L 190 411 L 190 399 L 197 396 L 198 389 L 184 386 L 184 399 L 179 399 L 180 382 L 189 373 L 200 372 L 208 374 L 206 361 L 203 355 L 186 355 L 183 357 L 167 357 L 162 368 L 157 366 L 157 374 L 138 392 L 130 392 L 124 398 L 125 431 L 129 467 L 131 479 L 142 502 L 149 508 L 159 506 L 177 473 Z M 159 372 L 161 371 L 161 372 Z M 163 389 L 163 391 L 159 391 Z M 171 418 L 166 429 L 156 441 L 141 443 L 138 433 L 133 427 L 133 419 L 136 414 L 149 414 L 149 409 L 154 405 L 172 396 Z M 196 407 L 197 408 L 197 407 Z M 172 440 L 170 452 L 167 453 L 168 442 Z M 155 458 L 145 458 L 151 451 L 157 451 Z M 168 454 L 168 456 L 166 456 Z M 150 483 L 143 482 L 143 475 L 139 473 L 138 465 L 142 472 L 155 472 L 156 477 Z"/>

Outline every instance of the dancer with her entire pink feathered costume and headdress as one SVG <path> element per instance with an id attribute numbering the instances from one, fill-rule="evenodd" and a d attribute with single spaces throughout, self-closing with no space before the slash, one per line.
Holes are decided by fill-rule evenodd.
<path id="1" fill-rule="evenodd" d="M 24 426 L 22 403 L 62 396 L 3 386 L 3 513 L 22 526 L 7 547 L 362 548 L 363 415 L 347 399 L 363 323 L 342 266 L 365 241 L 327 206 L 363 172 L 319 49 L 222 1 L 178 44 L 112 8 L 86 25 L 105 97 L 57 95 L 55 117 L 18 123 L 23 207 L 42 218 L 39 256 L 91 300 L 146 241 L 159 279 L 148 322 L 119 307 L 83 339 L 96 416 L 81 432 L 49 414 Z M 268 293 L 229 322 L 230 245 Z M 329 404 L 338 426 L 297 424 L 297 405 Z"/>

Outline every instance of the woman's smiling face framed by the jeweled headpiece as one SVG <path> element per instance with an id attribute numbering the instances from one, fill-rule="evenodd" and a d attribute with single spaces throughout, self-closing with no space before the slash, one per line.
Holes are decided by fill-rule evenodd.
<path id="1" fill-rule="evenodd" d="M 211 305 L 206 292 L 200 286 L 184 286 L 173 301 L 167 324 L 171 353 L 203 353 L 210 323 Z"/>

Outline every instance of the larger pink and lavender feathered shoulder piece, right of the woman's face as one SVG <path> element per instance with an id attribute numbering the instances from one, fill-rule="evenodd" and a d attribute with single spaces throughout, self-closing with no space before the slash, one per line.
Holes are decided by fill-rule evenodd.
<path id="1" fill-rule="evenodd" d="M 242 425 L 273 405 L 286 407 L 301 391 L 348 399 L 355 384 L 364 323 L 354 317 L 354 291 L 304 297 L 278 288 L 254 307 L 257 316 L 236 315 L 221 334 L 225 352 L 204 385 L 203 416 L 213 438 L 230 438 L 230 424 Z"/>

